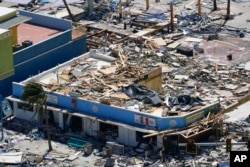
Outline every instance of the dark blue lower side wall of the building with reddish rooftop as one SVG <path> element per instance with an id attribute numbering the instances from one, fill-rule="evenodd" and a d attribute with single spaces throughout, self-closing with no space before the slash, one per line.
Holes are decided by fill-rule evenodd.
<path id="1" fill-rule="evenodd" d="M 78 38 L 46 52 L 42 51 L 39 55 L 34 54 L 37 52 L 33 51 L 27 49 L 17 52 L 17 58 L 14 55 L 14 62 L 19 62 L 15 64 L 15 74 L 0 81 L 0 94 L 4 97 L 11 95 L 12 82 L 23 81 L 31 75 L 48 70 L 86 52 L 86 37 Z M 22 57 L 28 58 L 25 60 Z"/>

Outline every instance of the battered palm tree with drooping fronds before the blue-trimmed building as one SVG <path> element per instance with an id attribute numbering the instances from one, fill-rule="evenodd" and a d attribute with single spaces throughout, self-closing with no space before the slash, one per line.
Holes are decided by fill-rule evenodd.
<path id="1" fill-rule="evenodd" d="M 46 99 L 47 99 L 47 96 L 41 84 L 35 81 L 31 81 L 24 86 L 21 100 L 23 100 L 29 105 L 35 106 L 36 109 L 35 109 L 34 116 L 38 114 L 39 124 L 42 123 L 43 114 L 45 113 L 48 145 L 49 145 L 49 151 L 51 151 L 52 145 L 51 145 L 51 137 L 50 137 L 50 131 L 49 131 L 49 120 L 48 120 Z"/>

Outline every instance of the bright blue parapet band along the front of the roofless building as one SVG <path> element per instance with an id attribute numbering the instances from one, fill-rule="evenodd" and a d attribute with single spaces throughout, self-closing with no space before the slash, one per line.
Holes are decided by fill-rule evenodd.
<path id="1" fill-rule="evenodd" d="M 23 92 L 23 86 L 19 83 L 13 83 L 13 93 L 12 93 L 13 96 L 18 98 L 22 95 L 22 92 Z M 135 127 L 153 129 L 153 130 L 165 130 L 169 128 L 185 127 L 187 125 L 186 119 L 189 115 L 192 116 L 193 114 L 201 113 L 200 114 L 201 117 L 197 117 L 197 119 L 200 119 L 204 116 L 205 110 L 206 111 L 209 110 L 209 109 L 204 109 L 201 111 L 190 113 L 187 116 L 183 116 L 183 117 L 182 116 L 157 117 L 157 116 L 153 116 L 150 114 L 145 114 L 141 112 L 133 112 L 133 111 L 126 110 L 123 108 L 109 106 L 109 105 L 101 104 L 98 102 L 87 101 L 87 100 L 78 99 L 78 98 L 75 99 L 76 105 L 74 106 L 71 102 L 72 97 L 65 96 L 62 94 L 56 94 L 53 92 L 52 93 L 50 92 L 49 94 L 57 97 L 57 100 L 56 100 L 57 103 L 53 104 L 53 103 L 48 102 L 49 105 L 53 105 L 58 108 L 65 108 L 72 112 L 94 116 L 102 120 L 115 121 L 115 122 L 124 123 L 124 124 L 135 126 Z M 219 103 L 215 104 L 215 106 L 218 106 L 218 105 Z M 214 108 L 213 106 L 214 105 L 212 105 L 211 107 Z M 144 123 L 136 122 L 135 115 L 154 119 L 155 126 L 149 126 L 149 125 L 145 125 Z"/>

